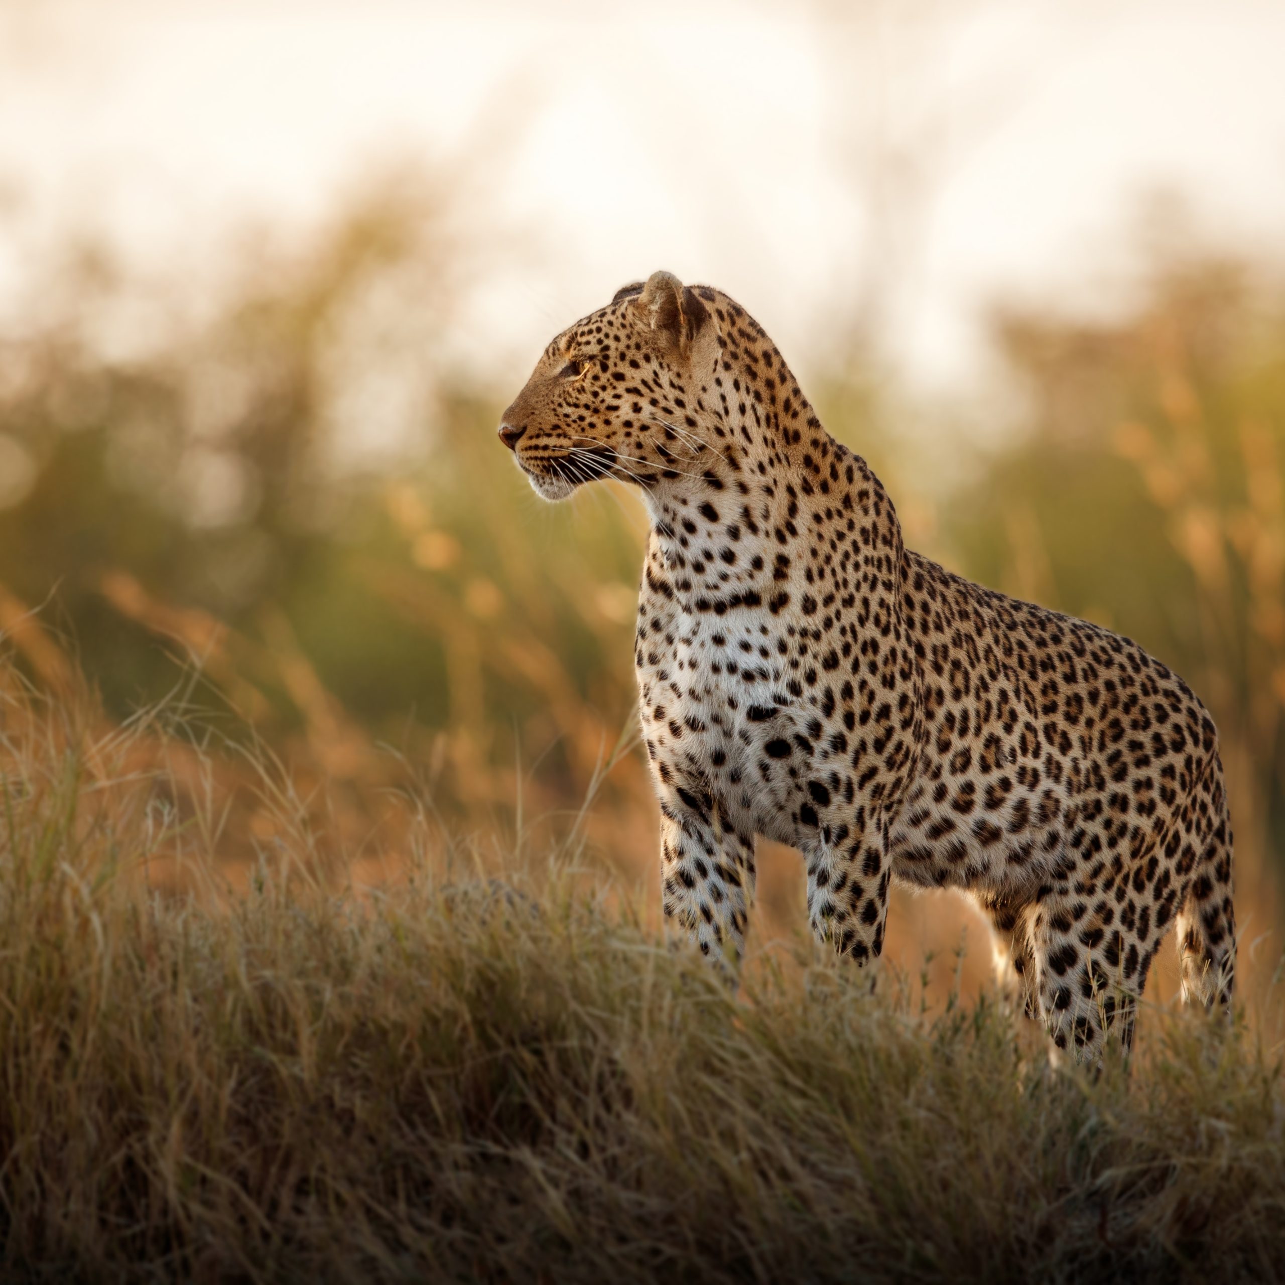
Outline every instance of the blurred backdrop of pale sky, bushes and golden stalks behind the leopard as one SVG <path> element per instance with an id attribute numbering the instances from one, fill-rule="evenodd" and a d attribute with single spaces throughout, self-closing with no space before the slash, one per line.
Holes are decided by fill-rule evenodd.
<path id="1" fill-rule="evenodd" d="M 163 703 L 234 879 L 288 795 L 359 883 L 428 811 L 574 830 L 655 914 L 642 511 L 542 505 L 495 427 L 666 267 L 762 323 L 911 546 L 1189 678 L 1270 971 L 1282 49 L 1253 0 L 0 0 L 4 645 L 108 725 Z M 761 902 L 803 929 L 795 856 Z M 964 903 L 900 897 L 889 952 L 965 932 L 979 978 Z"/>

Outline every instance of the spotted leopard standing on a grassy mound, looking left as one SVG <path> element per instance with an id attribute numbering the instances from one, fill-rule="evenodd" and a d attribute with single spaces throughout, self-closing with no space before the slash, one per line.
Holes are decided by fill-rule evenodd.
<path id="1" fill-rule="evenodd" d="M 545 348 L 499 436 L 546 500 L 614 479 L 645 505 L 634 663 L 671 935 L 739 968 L 762 838 L 802 855 L 810 928 L 857 966 L 892 880 L 970 898 L 1054 1060 L 1128 1054 L 1171 928 L 1183 1000 L 1230 1013 L 1205 707 L 1131 639 L 907 549 L 726 293 L 623 287 Z"/>

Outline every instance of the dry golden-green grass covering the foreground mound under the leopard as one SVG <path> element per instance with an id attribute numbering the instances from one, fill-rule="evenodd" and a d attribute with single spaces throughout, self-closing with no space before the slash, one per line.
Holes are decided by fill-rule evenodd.
<path id="1" fill-rule="evenodd" d="M 316 813 L 244 894 L 161 892 L 161 860 L 218 891 L 166 766 L 215 752 L 0 678 L 6 1279 L 1285 1272 L 1261 1027 L 1154 1014 L 1132 1074 L 1052 1072 L 987 995 L 932 1015 L 816 960 L 732 995 L 573 849 L 442 840 L 359 894 Z"/>

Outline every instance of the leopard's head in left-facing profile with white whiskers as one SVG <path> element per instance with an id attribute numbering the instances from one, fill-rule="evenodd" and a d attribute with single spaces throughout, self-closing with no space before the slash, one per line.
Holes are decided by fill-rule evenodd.
<path id="1" fill-rule="evenodd" d="M 702 397 L 718 364 L 717 298 L 653 272 L 549 344 L 500 423 L 537 495 L 563 500 L 601 477 L 654 492 L 702 475 L 723 436 Z"/>

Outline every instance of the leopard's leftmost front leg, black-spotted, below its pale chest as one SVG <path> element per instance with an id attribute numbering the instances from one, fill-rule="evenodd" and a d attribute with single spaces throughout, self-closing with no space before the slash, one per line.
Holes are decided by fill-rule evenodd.
<path id="1" fill-rule="evenodd" d="M 754 839 L 695 783 L 658 783 L 666 926 L 735 969 L 754 898 Z"/>

